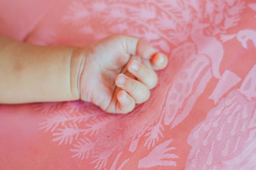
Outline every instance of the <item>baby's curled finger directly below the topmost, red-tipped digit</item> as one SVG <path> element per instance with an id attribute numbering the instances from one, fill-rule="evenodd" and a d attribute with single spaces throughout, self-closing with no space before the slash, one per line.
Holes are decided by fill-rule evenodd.
<path id="1" fill-rule="evenodd" d="M 155 71 L 141 64 L 137 60 L 131 60 L 127 66 L 128 71 L 145 84 L 148 89 L 152 89 L 156 86 L 158 78 Z"/>

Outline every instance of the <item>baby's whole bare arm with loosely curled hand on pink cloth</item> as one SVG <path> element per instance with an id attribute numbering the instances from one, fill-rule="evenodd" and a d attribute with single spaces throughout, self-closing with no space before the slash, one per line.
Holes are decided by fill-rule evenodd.
<path id="1" fill-rule="evenodd" d="M 108 113 L 147 101 L 168 58 L 147 41 L 116 34 L 83 48 L 0 37 L 0 103 L 81 99 Z"/>

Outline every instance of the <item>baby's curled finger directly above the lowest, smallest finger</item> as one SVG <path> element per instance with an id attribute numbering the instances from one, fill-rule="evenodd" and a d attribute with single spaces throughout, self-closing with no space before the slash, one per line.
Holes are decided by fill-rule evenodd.
<path id="1" fill-rule="evenodd" d="M 143 103 L 147 101 L 150 96 L 150 91 L 146 85 L 140 81 L 125 76 L 125 74 L 118 74 L 115 83 L 117 87 L 128 92 L 136 103 Z"/>

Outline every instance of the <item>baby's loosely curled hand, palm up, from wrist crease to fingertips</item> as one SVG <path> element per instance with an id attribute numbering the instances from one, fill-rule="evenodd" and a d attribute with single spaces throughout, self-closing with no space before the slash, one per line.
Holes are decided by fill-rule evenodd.
<path id="1" fill-rule="evenodd" d="M 83 50 L 81 99 L 109 113 L 129 113 L 147 101 L 157 84 L 154 70 L 168 63 L 165 55 L 133 36 L 109 36 Z"/>

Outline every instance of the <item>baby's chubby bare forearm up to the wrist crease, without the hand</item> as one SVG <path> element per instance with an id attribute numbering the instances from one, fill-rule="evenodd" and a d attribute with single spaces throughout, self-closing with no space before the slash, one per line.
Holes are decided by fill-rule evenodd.
<path id="1" fill-rule="evenodd" d="M 79 99 L 83 52 L 36 46 L 0 36 L 0 103 Z"/>

